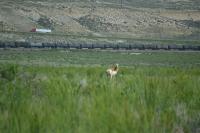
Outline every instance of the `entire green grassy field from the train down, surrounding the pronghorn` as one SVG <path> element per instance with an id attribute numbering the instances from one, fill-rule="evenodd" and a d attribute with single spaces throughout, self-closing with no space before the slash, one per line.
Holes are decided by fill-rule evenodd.
<path id="1" fill-rule="evenodd" d="M 2 133 L 200 131 L 199 52 L 1 50 L 0 62 Z"/>

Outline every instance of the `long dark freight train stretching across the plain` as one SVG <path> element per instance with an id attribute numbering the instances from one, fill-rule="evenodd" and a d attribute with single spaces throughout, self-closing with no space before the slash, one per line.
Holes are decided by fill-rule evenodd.
<path id="1" fill-rule="evenodd" d="M 177 45 L 177 44 L 137 44 L 137 43 L 119 43 L 119 44 L 101 44 L 101 43 L 48 43 L 48 42 L 5 42 L 0 41 L 0 48 L 66 48 L 66 49 L 107 49 L 107 50 L 197 50 L 200 51 L 200 45 Z"/>

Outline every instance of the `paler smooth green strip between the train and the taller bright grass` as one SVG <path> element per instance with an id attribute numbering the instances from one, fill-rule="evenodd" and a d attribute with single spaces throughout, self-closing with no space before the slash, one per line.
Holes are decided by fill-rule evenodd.
<path id="1" fill-rule="evenodd" d="M 101 50 L 1 50 L 0 62 L 39 66 L 200 66 L 200 52 L 194 51 L 101 51 Z"/>

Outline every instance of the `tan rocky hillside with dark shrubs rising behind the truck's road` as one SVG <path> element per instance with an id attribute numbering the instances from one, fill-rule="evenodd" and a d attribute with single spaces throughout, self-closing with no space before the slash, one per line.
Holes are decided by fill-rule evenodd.
<path id="1" fill-rule="evenodd" d="M 3 0 L 0 31 L 157 39 L 200 37 L 198 0 Z"/>

